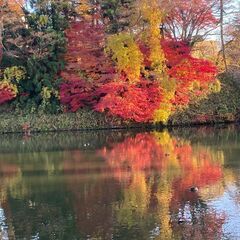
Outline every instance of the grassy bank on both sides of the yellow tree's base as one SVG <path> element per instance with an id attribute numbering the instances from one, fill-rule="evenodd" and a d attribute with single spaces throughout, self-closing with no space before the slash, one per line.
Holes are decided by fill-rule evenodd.
<path id="1" fill-rule="evenodd" d="M 222 90 L 208 99 L 192 104 L 188 109 L 176 112 L 169 125 L 192 125 L 201 123 L 233 122 L 240 119 L 240 88 L 230 77 L 222 77 Z M 148 127 L 149 125 L 123 122 L 92 110 L 83 109 L 77 113 L 58 115 L 34 113 L 0 114 L 0 133 L 107 129 L 127 127 Z"/>

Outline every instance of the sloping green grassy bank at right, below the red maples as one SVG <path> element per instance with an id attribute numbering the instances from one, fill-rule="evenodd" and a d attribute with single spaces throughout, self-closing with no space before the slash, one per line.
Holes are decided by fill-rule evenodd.
<path id="1" fill-rule="evenodd" d="M 240 86 L 232 78 L 221 76 L 222 89 L 207 99 L 173 114 L 171 125 L 234 122 L 239 120 Z"/>

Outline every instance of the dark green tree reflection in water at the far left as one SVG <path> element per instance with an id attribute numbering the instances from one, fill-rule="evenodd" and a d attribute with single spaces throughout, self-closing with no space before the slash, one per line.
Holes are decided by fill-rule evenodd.
<path id="1" fill-rule="evenodd" d="M 1 206 L 10 239 L 32 239 L 37 234 L 40 239 L 77 236 L 65 183 L 54 176 L 61 164 L 61 152 L 0 155 Z"/>

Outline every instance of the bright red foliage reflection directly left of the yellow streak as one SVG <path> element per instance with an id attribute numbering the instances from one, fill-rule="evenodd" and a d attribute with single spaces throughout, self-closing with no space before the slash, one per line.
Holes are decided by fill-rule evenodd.
<path id="1" fill-rule="evenodd" d="M 124 172 L 162 169 L 167 160 L 165 152 L 149 133 L 128 137 L 110 149 L 104 148 L 100 154 L 106 158 L 114 175 L 120 179 Z"/>

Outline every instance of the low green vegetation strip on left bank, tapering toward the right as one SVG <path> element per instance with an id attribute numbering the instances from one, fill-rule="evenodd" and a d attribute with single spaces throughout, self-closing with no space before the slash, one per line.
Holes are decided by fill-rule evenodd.
<path id="1" fill-rule="evenodd" d="M 33 106 L 33 105 L 32 105 Z M 130 127 L 117 118 L 108 118 L 104 114 L 82 109 L 76 113 L 47 114 L 41 111 L 19 111 L 0 113 L 0 133 L 24 132 L 23 126 L 29 125 L 31 132 L 66 131 L 79 129 L 106 129 L 111 127 Z M 133 126 L 133 125 L 132 125 Z"/>

